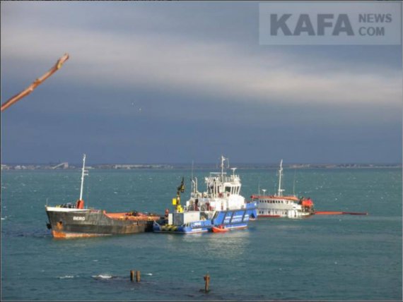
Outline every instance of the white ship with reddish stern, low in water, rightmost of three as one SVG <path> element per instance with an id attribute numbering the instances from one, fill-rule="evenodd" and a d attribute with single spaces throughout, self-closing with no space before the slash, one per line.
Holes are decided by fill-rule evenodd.
<path id="1" fill-rule="evenodd" d="M 257 202 L 257 217 L 300 218 L 315 214 L 313 201 L 310 198 L 298 198 L 296 195 L 284 196 L 281 188 L 283 176 L 283 159 L 279 169 L 279 190 L 274 195 L 252 195 Z M 264 192 L 266 190 L 263 190 Z"/>

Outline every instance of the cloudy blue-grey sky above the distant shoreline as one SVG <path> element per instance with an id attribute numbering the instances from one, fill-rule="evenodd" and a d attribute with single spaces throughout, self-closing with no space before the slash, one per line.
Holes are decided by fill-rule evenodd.
<path id="1" fill-rule="evenodd" d="M 1 1 L 1 163 L 401 163 L 402 45 L 259 44 L 259 2 Z"/>

